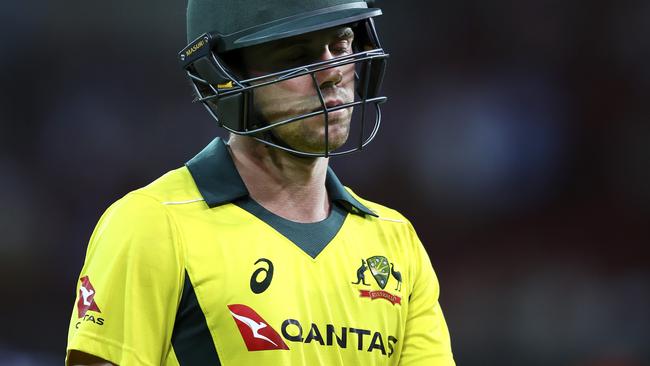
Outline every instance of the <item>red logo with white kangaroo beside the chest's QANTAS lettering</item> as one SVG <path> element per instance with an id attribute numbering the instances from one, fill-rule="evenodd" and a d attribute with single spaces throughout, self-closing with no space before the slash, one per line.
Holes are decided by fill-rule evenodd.
<path id="1" fill-rule="evenodd" d="M 241 304 L 228 305 L 228 309 L 249 351 L 289 349 L 280 335 L 255 310 Z"/>

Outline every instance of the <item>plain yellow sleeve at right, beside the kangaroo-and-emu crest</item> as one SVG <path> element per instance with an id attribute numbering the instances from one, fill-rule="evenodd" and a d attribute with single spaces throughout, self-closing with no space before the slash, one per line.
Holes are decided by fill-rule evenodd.
<path id="1" fill-rule="evenodd" d="M 413 288 L 400 365 L 453 366 L 449 330 L 438 302 L 438 279 L 412 227 L 411 235 L 414 246 Z"/>

